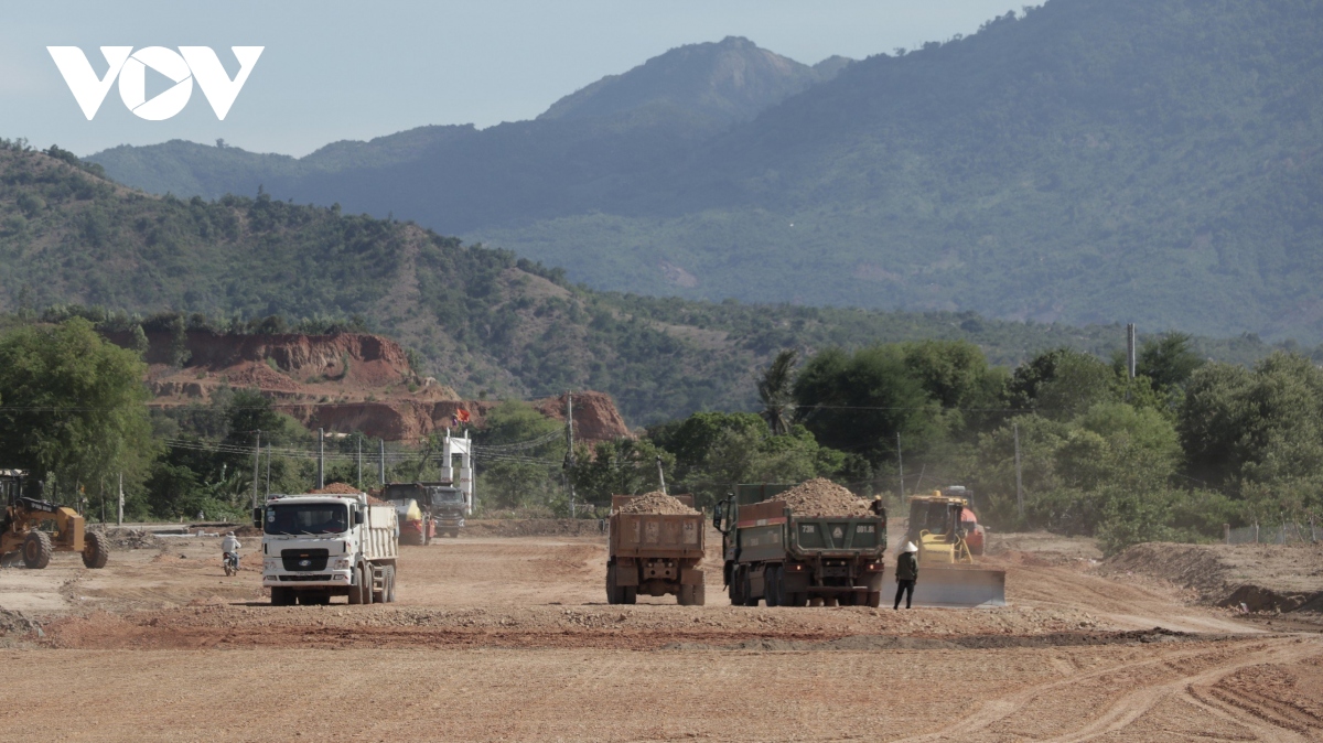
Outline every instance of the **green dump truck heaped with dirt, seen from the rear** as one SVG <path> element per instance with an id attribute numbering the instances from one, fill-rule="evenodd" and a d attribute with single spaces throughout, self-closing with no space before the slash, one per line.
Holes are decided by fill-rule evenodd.
<path id="1" fill-rule="evenodd" d="M 717 504 L 713 526 L 722 533 L 730 603 L 878 606 L 886 512 L 796 516 L 775 500 L 791 487 L 740 485 Z"/>

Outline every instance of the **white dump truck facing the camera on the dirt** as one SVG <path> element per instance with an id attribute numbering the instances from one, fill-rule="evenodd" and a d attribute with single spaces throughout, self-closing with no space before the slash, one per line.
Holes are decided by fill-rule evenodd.
<path id="1" fill-rule="evenodd" d="M 262 529 L 262 586 L 273 606 L 396 600 L 393 505 L 365 493 L 273 494 L 253 510 L 253 525 Z"/>

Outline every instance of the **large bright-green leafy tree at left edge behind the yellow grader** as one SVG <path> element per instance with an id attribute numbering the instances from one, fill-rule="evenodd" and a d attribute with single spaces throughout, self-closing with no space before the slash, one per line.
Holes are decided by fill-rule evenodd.
<path id="1" fill-rule="evenodd" d="M 136 488 L 156 447 L 146 365 L 91 323 L 21 327 L 0 337 L 0 450 L 11 467 L 53 473 L 62 498 L 75 484 Z"/>

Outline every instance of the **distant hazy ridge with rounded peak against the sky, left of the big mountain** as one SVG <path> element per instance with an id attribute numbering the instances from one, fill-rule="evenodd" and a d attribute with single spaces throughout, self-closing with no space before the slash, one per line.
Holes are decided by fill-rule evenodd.
<path id="1" fill-rule="evenodd" d="M 594 193 L 610 190 L 605 185 L 594 189 L 594 181 L 683 156 L 730 124 L 831 79 L 851 63 L 845 57 L 831 57 L 810 67 L 746 38 L 726 37 L 672 49 L 624 74 L 609 75 L 561 98 L 532 122 L 487 130 L 471 124 L 418 127 L 370 141 L 331 143 L 304 157 L 171 140 L 120 145 L 87 160 L 103 165 L 120 182 L 160 194 L 220 198 L 228 193 L 250 196 L 262 186 L 300 202 L 339 201 L 351 210 L 372 213 L 384 206 L 382 215 L 414 215 L 426 204 L 452 200 L 451 208 L 442 206 L 442 219 L 443 229 L 454 231 L 493 218 L 527 221 L 529 197 L 550 201 L 552 212 L 560 213 L 569 196 L 565 188 L 582 186 L 591 200 Z M 493 165 L 503 169 L 491 173 Z M 446 182 L 427 181 L 439 192 L 401 192 L 401 182 L 414 182 L 401 178 L 427 178 L 429 169 L 443 171 L 448 181 L 464 186 L 448 189 Z M 359 181 L 384 185 L 388 196 L 376 198 L 378 189 L 359 186 Z M 484 182 L 491 190 L 483 189 Z M 468 190 L 474 186 L 476 194 Z M 521 193 L 527 193 L 524 200 Z M 512 205 L 503 208 L 497 200 L 512 200 Z"/>

